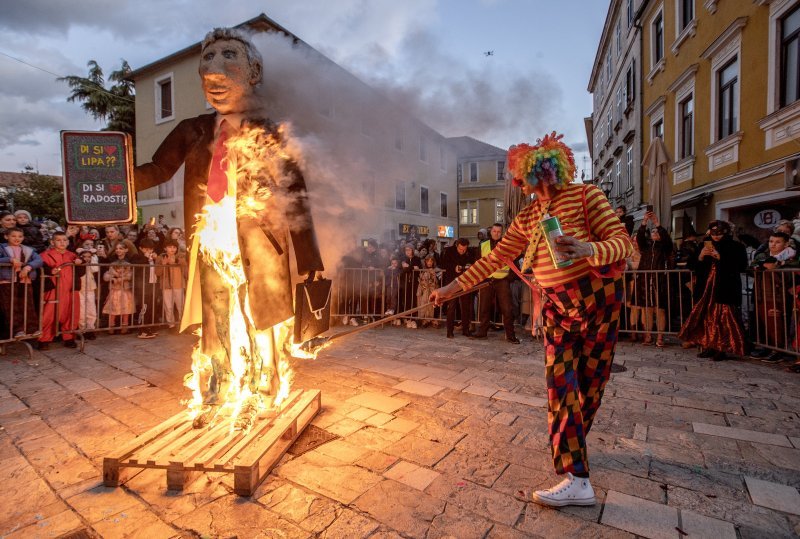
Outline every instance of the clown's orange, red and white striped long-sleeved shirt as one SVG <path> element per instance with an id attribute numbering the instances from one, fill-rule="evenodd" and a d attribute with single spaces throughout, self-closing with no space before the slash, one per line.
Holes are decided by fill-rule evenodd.
<path id="1" fill-rule="evenodd" d="M 583 209 L 584 191 L 586 212 Z M 547 250 L 547 239 L 542 235 L 532 266 L 533 274 L 541 286 L 550 287 L 574 281 L 588 274 L 590 266 L 611 264 L 623 260 L 633 252 L 633 244 L 625 227 L 603 192 L 594 185 L 568 184 L 551 200 L 548 213 L 561 221 L 565 236 L 591 242 L 595 254 L 588 258 L 573 260 L 570 266 L 556 268 Z M 533 231 L 539 226 L 540 220 L 541 206 L 540 201 L 536 199 L 519 212 L 494 250 L 458 277 L 461 287 L 465 290 L 472 288 L 504 266 L 505 262 L 502 262 L 498 255 L 507 260 L 517 258 L 528 248 Z"/>

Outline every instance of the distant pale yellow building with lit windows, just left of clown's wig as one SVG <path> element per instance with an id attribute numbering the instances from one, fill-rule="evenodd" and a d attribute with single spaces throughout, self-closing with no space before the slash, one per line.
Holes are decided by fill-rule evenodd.
<path id="1" fill-rule="evenodd" d="M 478 243 L 478 230 L 504 223 L 506 151 L 472 137 L 447 139 L 458 163 L 459 236 Z"/>

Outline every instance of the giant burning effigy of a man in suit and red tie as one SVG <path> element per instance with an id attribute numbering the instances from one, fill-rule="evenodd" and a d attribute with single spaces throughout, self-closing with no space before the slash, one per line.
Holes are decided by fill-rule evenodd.
<path id="1" fill-rule="evenodd" d="M 286 128 L 255 97 L 263 67 L 236 29 L 210 32 L 199 72 L 216 110 L 182 121 L 151 163 L 136 168 L 136 189 L 169 180 L 184 165 L 184 215 L 191 237 L 181 330 L 199 323 L 185 385 L 195 427 L 230 421 L 247 430 L 260 411 L 289 394 L 293 301 L 289 239 L 296 269 L 313 281 L 323 264 L 303 175 Z"/>

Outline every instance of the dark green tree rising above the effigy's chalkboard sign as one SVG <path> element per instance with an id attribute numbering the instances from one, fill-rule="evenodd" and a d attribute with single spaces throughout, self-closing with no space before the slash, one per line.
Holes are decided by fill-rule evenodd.
<path id="1" fill-rule="evenodd" d="M 92 118 L 106 122 L 103 131 L 123 131 L 133 137 L 136 134 L 136 92 L 133 81 L 127 78 L 131 72 L 130 65 L 123 59 L 122 66 L 111 72 L 108 76 L 113 83 L 110 88 L 106 88 L 103 69 L 95 60 L 89 60 L 86 65 L 88 76 L 68 75 L 58 79 L 66 82 L 72 90 L 67 101 L 81 102 L 81 108 Z"/>

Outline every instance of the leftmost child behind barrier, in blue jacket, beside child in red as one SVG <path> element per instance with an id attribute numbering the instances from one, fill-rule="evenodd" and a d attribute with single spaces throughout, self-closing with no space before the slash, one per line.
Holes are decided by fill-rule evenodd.
<path id="1" fill-rule="evenodd" d="M 24 239 L 21 229 L 11 228 L 6 232 L 7 243 L 0 244 L 0 309 L 5 317 L 0 338 L 3 339 L 33 334 L 39 326 L 32 281 L 43 262 L 33 247 L 22 244 Z"/>

